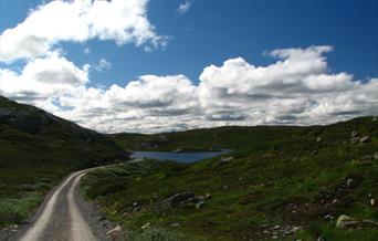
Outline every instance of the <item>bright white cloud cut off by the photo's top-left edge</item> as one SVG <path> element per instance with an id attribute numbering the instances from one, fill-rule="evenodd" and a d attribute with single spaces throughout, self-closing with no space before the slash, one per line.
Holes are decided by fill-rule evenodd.
<path id="1" fill-rule="evenodd" d="M 148 0 L 50 1 L 34 9 L 13 29 L 0 35 L 0 61 L 49 55 L 62 41 L 114 40 L 118 45 L 135 43 L 164 46 L 147 19 Z"/>

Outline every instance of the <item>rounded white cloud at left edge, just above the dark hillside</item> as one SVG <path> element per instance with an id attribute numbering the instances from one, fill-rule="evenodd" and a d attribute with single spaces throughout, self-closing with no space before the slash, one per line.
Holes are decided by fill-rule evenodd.
<path id="1" fill-rule="evenodd" d="M 22 73 L 0 69 L 0 93 L 10 98 L 49 106 L 55 97 L 64 96 L 74 88 L 88 83 L 88 65 L 77 67 L 59 55 L 51 55 L 29 62 Z"/>

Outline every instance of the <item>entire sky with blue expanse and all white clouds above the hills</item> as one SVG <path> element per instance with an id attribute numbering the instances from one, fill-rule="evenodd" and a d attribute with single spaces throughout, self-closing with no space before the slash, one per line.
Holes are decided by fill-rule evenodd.
<path id="1" fill-rule="evenodd" d="M 2 1 L 0 95 L 101 133 L 377 116 L 377 11 L 372 0 Z"/>

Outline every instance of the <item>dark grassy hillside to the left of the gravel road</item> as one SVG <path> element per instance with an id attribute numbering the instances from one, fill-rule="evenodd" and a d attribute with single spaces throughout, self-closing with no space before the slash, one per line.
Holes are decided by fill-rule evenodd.
<path id="1" fill-rule="evenodd" d="M 104 136 L 0 96 L 0 226 L 18 223 L 74 169 L 123 150 Z"/>

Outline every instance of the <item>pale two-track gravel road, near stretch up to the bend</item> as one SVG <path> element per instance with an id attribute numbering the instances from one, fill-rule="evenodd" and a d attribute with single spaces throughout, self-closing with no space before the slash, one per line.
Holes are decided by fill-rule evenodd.
<path id="1" fill-rule="evenodd" d="M 8 241 L 103 241 L 114 223 L 106 221 L 94 205 L 85 202 L 78 192 L 80 179 L 88 170 L 71 174 L 48 196 L 39 211 L 0 240 Z"/>

